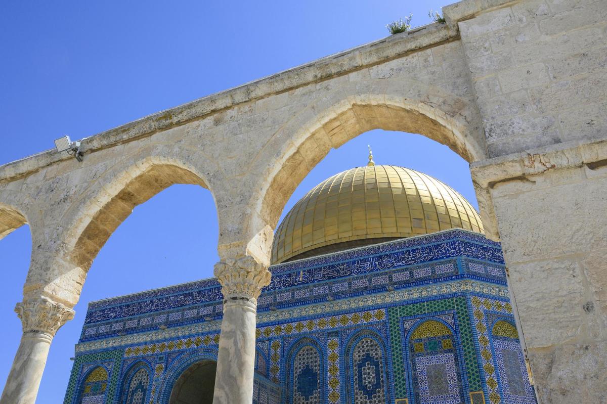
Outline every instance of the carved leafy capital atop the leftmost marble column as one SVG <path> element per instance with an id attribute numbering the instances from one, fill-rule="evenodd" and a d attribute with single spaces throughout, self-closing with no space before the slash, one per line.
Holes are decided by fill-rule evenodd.
<path id="1" fill-rule="evenodd" d="M 74 311 L 47 297 L 17 303 L 15 312 L 21 318 L 23 332 L 41 332 L 54 337 L 55 332 L 74 317 Z"/>

